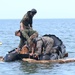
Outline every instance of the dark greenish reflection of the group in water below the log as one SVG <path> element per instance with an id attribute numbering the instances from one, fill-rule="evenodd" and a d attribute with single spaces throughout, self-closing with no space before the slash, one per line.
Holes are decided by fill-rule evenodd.
<path id="1" fill-rule="evenodd" d="M 45 70 L 53 69 L 53 64 L 35 64 L 35 63 L 27 63 L 27 62 L 20 62 L 20 70 L 25 72 L 26 74 L 35 74 L 41 73 Z"/>

